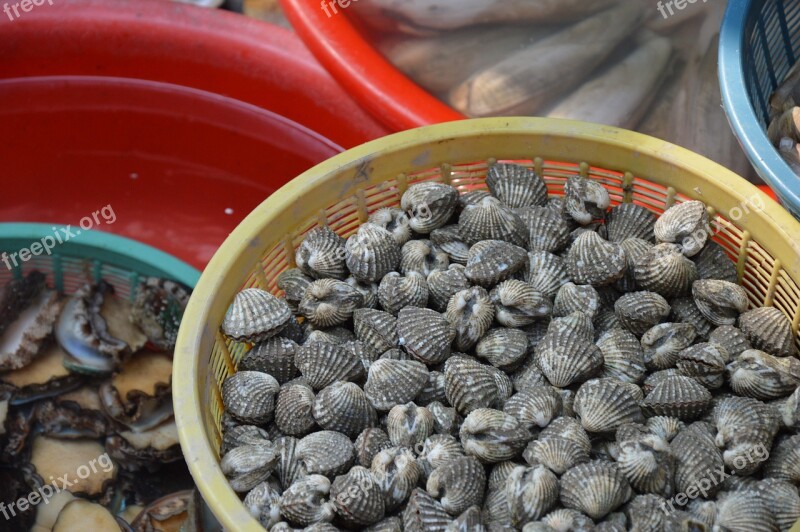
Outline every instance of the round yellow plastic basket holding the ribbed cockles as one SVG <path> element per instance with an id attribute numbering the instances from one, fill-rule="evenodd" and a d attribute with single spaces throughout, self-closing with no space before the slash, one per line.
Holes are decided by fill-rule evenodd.
<path id="1" fill-rule="evenodd" d="M 241 289 L 275 294 L 278 274 L 294 266 L 303 235 L 328 225 L 342 236 L 368 215 L 396 206 L 408 185 L 440 180 L 461 191 L 484 187 L 489 165 L 536 169 L 551 194 L 582 174 L 609 190 L 614 204 L 661 213 L 688 199 L 709 206 L 719 242 L 738 261 L 754 307 L 774 305 L 800 324 L 800 223 L 725 168 L 645 135 L 582 122 L 537 118 L 466 120 L 398 133 L 342 153 L 294 179 L 258 206 L 214 255 L 183 318 L 173 394 L 181 445 L 203 497 L 227 530 L 262 530 L 219 468 L 220 386 L 247 346 L 220 333 Z M 763 207 L 763 208 L 761 208 Z"/>

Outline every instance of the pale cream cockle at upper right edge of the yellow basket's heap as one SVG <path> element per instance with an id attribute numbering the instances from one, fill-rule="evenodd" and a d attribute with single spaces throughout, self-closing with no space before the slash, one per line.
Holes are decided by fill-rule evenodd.
<path id="1" fill-rule="evenodd" d="M 684 255 L 694 256 L 710 234 L 706 206 L 702 201 L 673 205 L 656 220 L 653 231 L 659 242 L 679 244 Z"/>

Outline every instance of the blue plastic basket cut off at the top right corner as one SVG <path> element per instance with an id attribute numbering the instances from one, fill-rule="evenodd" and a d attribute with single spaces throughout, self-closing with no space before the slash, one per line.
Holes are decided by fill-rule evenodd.
<path id="1" fill-rule="evenodd" d="M 769 97 L 800 57 L 800 0 L 729 0 L 719 40 L 722 102 L 761 178 L 800 218 L 800 177 L 767 138 Z"/>

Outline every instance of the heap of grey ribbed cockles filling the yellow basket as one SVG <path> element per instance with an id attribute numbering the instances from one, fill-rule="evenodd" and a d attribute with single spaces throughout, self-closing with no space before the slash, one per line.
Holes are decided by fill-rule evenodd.
<path id="1" fill-rule="evenodd" d="M 267 529 L 788 530 L 800 360 L 708 211 L 410 186 L 236 295 L 221 469 Z"/>

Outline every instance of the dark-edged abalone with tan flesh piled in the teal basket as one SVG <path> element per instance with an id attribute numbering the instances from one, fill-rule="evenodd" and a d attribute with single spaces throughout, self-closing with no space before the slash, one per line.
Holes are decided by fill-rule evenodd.
<path id="1" fill-rule="evenodd" d="M 64 296 L 36 270 L 0 288 L 0 530 L 162 530 L 148 523 L 185 513 L 148 505 L 193 487 L 171 390 L 188 298 L 159 278 Z"/>

